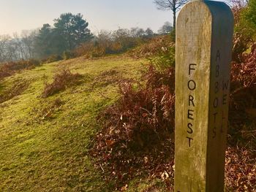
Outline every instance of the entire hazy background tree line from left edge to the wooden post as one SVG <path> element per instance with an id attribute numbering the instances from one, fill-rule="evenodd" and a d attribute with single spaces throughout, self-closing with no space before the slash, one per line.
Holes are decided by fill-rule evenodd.
<path id="1" fill-rule="evenodd" d="M 171 23 L 159 28 L 157 34 L 151 28 L 118 28 L 116 31 L 99 31 L 96 36 L 89 30 L 89 23 L 78 13 L 61 14 L 53 20 L 53 26 L 45 23 L 41 28 L 33 31 L 23 31 L 20 35 L 0 36 L 0 63 L 7 61 L 28 60 L 31 58 L 44 59 L 50 55 L 62 55 L 94 42 L 126 41 L 127 48 L 135 46 L 135 38 L 148 39 L 157 34 L 167 34 L 172 31 Z"/>

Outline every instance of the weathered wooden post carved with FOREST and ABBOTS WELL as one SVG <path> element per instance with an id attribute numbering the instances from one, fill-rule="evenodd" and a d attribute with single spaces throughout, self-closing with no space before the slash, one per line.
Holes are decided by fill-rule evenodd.
<path id="1" fill-rule="evenodd" d="M 175 191 L 224 191 L 233 14 L 192 1 L 176 25 Z"/>

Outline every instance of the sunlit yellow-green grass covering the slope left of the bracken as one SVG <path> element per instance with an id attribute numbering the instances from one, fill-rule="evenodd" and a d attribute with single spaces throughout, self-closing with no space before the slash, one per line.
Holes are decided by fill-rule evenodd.
<path id="1" fill-rule="evenodd" d="M 0 95 L 16 81 L 29 82 L 26 91 L 0 104 L 0 191 L 111 191 L 113 183 L 94 168 L 89 146 L 100 129 L 97 115 L 118 99 L 116 80 L 138 79 L 141 63 L 146 61 L 121 56 L 75 58 L 0 82 Z M 82 83 L 40 97 L 45 80 L 51 82 L 61 69 L 83 74 Z M 129 191 L 143 190 L 146 183 L 135 181 Z"/>

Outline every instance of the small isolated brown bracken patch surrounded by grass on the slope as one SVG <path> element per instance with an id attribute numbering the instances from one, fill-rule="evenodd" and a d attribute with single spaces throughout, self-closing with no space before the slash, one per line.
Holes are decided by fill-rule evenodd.
<path id="1" fill-rule="evenodd" d="M 81 77 L 83 77 L 81 74 L 72 74 L 68 69 L 62 70 L 60 73 L 55 74 L 52 83 L 45 82 L 42 97 L 52 96 L 59 91 L 64 91 L 69 86 L 78 85 Z"/>

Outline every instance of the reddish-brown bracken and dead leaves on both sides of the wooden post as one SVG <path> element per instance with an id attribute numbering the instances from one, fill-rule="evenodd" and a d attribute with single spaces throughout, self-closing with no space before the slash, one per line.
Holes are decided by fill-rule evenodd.
<path id="1" fill-rule="evenodd" d="M 227 191 L 256 188 L 255 47 L 232 66 Z M 140 82 L 121 82 L 121 99 L 99 116 L 103 128 L 91 155 L 104 179 L 116 180 L 116 188 L 134 177 L 157 177 L 173 189 L 174 75 L 171 67 L 159 72 L 150 66 Z"/>

